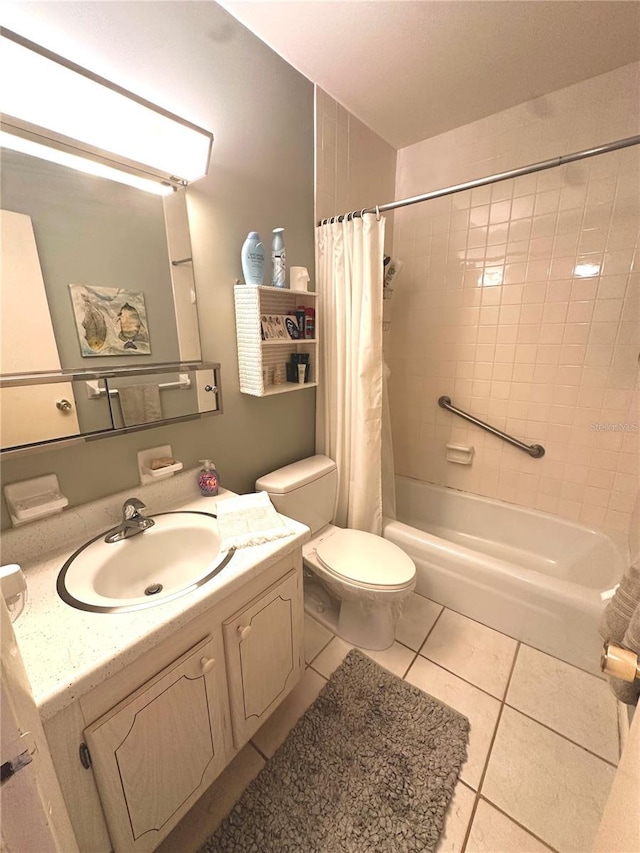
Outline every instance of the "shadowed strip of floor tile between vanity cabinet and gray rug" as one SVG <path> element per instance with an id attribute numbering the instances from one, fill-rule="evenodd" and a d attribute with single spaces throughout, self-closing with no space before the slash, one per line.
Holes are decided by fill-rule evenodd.
<path id="1" fill-rule="evenodd" d="M 247 744 L 169 833 L 156 853 L 198 850 L 222 823 L 264 764 L 264 758 Z"/>

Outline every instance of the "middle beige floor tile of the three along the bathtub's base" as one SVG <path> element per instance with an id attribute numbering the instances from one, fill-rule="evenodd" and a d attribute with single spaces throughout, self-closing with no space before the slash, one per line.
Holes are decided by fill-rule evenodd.
<path id="1" fill-rule="evenodd" d="M 445 610 L 420 654 L 502 699 L 517 645 L 511 637 Z"/>

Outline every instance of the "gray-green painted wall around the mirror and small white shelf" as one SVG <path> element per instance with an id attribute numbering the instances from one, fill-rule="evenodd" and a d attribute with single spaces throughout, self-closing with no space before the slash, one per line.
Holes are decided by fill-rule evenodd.
<path id="1" fill-rule="evenodd" d="M 56 473 L 72 506 L 139 491 L 138 450 L 170 443 L 223 485 L 314 451 L 313 389 L 238 391 L 233 284 L 248 231 L 285 228 L 288 262 L 313 270 L 313 86 L 213 2 L 11 3 L 6 26 L 213 131 L 209 176 L 189 190 L 202 355 L 222 365 L 224 414 L 3 461 L 5 483 Z M 2 506 L 2 525 L 8 523 Z"/>

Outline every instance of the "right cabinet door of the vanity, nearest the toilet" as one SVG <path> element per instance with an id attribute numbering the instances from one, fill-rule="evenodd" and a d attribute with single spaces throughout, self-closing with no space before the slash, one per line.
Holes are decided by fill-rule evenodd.
<path id="1" fill-rule="evenodd" d="M 233 742 L 240 749 L 303 672 L 298 571 L 223 623 Z"/>

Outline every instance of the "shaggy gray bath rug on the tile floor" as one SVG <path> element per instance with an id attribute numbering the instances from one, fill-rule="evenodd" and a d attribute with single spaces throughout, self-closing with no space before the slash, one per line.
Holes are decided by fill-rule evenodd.
<path id="1" fill-rule="evenodd" d="M 200 853 L 432 851 L 468 732 L 354 649 Z"/>

